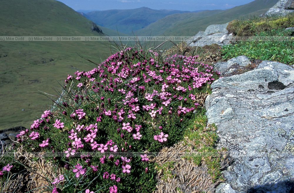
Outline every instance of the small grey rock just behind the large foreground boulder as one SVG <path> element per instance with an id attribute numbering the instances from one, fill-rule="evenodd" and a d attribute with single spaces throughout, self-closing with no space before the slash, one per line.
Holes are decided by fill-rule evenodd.
<path id="1" fill-rule="evenodd" d="M 228 74 L 236 72 L 238 69 L 243 69 L 245 66 L 250 64 L 251 62 L 247 56 L 238 56 L 228 60 L 227 62 L 218 62 L 213 66 L 213 68 L 220 72 L 220 76 L 227 76 Z"/>

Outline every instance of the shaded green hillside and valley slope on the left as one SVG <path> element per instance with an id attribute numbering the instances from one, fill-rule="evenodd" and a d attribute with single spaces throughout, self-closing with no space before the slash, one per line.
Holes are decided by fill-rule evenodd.
<path id="1" fill-rule="evenodd" d="M 54 0 L 1 0 L 0 36 L 101 36 L 92 21 Z M 113 30 L 103 28 L 111 34 Z M 94 65 L 110 54 L 107 42 L 0 42 L 0 129 L 29 127 L 50 100 L 36 92 L 57 94 L 67 74 Z"/>

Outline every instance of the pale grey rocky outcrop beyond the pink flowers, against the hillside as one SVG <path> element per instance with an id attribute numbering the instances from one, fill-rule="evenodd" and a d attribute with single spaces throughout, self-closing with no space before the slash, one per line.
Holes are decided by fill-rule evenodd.
<path id="1" fill-rule="evenodd" d="M 194 36 L 193 41 L 187 41 L 187 44 L 190 46 L 205 46 L 211 44 L 224 46 L 230 44 L 231 42 L 227 40 L 227 38 L 233 36 L 233 34 L 229 34 L 227 26 L 228 23 L 210 25 L 205 31 L 199 31 L 198 34 Z"/>

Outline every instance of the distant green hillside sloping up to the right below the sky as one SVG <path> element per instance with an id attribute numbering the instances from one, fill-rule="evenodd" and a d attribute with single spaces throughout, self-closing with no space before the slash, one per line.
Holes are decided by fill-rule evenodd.
<path id="1" fill-rule="evenodd" d="M 256 0 L 227 10 L 169 15 L 135 31 L 135 34 L 193 36 L 211 24 L 224 24 L 233 19 L 263 14 L 277 2 L 278 0 Z"/>

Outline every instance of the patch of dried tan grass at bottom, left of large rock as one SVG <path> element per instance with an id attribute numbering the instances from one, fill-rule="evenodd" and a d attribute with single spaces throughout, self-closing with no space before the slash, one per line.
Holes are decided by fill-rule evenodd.
<path id="1" fill-rule="evenodd" d="M 187 140 L 187 139 L 186 139 Z M 185 143 L 179 142 L 172 147 L 165 147 L 161 150 L 160 156 L 151 159 L 162 165 L 166 162 L 174 162 L 171 172 L 173 176 L 167 180 L 162 178 L 162 171 L 158 173 L 156 190 L 154 193 L 164 192 L 214 192 L 215 184 L 208 174 L 208 168 L 205 164 L 198 166 L 187 159 L 170 156 L 166 157 L 164 154 L 178 154 L 182 152 L 195 152 L 191 147 Z"/>

